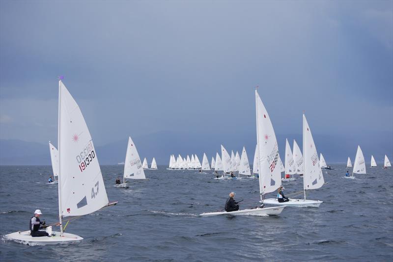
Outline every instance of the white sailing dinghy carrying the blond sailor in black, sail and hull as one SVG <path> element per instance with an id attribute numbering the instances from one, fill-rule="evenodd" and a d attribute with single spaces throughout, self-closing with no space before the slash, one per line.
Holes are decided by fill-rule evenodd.
<path id="1" fill-rule="evenodd" d="M 255 107 L 256 107 L 256 137 L 258 150 L 258 170 L 259 172 L 259 194 L 261 200 L 263 195 L 273 192 L 281 186 L 281 172 L 277 165 L 279 159 L 279 147 L 277 145 L 276 135 L 274 133 L 272 122 L 260 99 L 257 90 L 255 90 Z M 215 216 L 222 214 L 231 215 L 279 215 L 285 206 L 273 207 L 256 207 L 253 209 L 242 209 L 231 212 L 213 212 L 203 213 L 201 216 Z"/>

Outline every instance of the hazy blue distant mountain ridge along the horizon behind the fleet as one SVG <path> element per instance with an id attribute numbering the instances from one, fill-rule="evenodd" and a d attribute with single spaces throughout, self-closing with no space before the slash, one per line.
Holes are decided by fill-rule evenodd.
<path id="1" fill-rule="evenodd" d="M 212 156 L 215 157 L 216 152 L 220 152 L 221 144 L 227 150 L 239 152 L 243 146 L 246 146 L 249 161 L 252 163 L 256 141 L 252 131 L 248 135 L 239 135 L 231 132 L 230 129 L 225 134 L 214 133 L 214 131 L 212 133 L 163 131 L 132 137 L 132 139 L 138 148 L 141 160 L 146 157 L 149 166 L 153 157 L 156 158 L 158 165 L 168 165 L 170 154 L 176 157 L 178 154 L 183 157 L 187 154 L 190 156 L 197 154 L 199 159 L 202 159 L 205 152 L 210 162 Z M 282 161 L 284 161 L 285 154 L 285 138 L 288 138 L 291 148 L 293 139 L 302 148 L 301 134 L 276 134 L 276 136 Z M 392 134 L 381 133 L 379 138 L 373 140 L 362 137 L 362 134 L 339 138 L 333 135 L 313 134 L 313 138 L 318 155 L 322 153 L 328 165 L 346 163 L 348 156 L 354 161 L 358 145 L 362 147 L 366 165 L 370 162 L 371 154 L 374 155 L 377 163 L 383 162 L 385 154 L 391 161 L 393 160 Z M 128 137 L 124 137 L 104 146 L 95 146 L 100 164 L 116 165 L 123 162 L 127 141 Z M 57 146 L 57 141 L 53 144 Z M 0 165 L 51 165 L 49 145 L 21 140 L 0 140 Z"/>

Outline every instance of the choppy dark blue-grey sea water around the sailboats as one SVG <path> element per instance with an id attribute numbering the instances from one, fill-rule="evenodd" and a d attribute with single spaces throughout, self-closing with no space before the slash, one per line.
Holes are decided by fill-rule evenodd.
<path id="1" fill-rule="evenodd" d="M 215 180 L 196 171 L 146 170 L 150 180 L 114 188 L 123 166 L 103 166 L 111 201 L 119 204 L 70 222 L 80 243 L 26 246 L 1 237 L 0 260 L 78 261 L 392 261 L 393 170 L 367 168 L 368 175 L 341 178 L 344 165 L 324 171 L 322 188 L 308 199 L 319 208 L 286 207 L 280 216 L 200 217 L 224 207 L 230 191 L 241 208 L 259 200 L 257 179 Z M 47 185 L 50 166 L 0 167 L 0 234 L 28 230 L 39 208 L 57 221 L 57 186 Z M 285 193 L 303 189 L 303 179 L 283 183 Z M 274 197 L 274 194 L 271 195 Z M 55 229 L 58 230 L 58 229 Z"/>

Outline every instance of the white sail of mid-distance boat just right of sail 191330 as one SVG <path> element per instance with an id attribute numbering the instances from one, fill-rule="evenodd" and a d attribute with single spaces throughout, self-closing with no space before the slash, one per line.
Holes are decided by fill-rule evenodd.
<path id="1" fill-rule="evenodd" d="M 124 178 L 146 179 L 137 147 L 131 137 L 128 137 L 126 160 L 124 161 Z"/>

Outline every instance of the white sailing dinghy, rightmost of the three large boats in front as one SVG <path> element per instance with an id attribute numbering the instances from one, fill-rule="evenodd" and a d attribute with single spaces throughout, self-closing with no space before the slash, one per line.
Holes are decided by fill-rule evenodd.
<path id="1" fill-rule="evenodd" d="M 318 207 L 322 201 L 307 200 L 306 191 L 310 189 L 317 189 L 323 186 L 325 180 L 323 179 L 321 166 L 319 164 L 318 153 L 312 139 L 311 130 L 307 122 L 306 116 L 303 114 L 303 156 L 304 156 L 304 175 L 303 175 L 303 192 L 304 199 L 290 199 L 288 202 L 279 203 L 276 199 L 267 199 L 265 204 L 279 204 L 284 206 L 296 207 Z"/>

